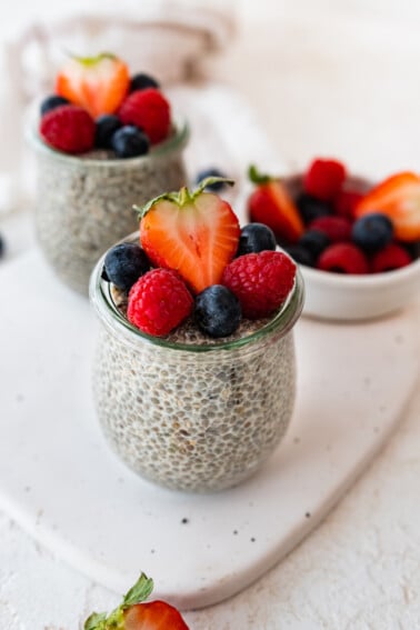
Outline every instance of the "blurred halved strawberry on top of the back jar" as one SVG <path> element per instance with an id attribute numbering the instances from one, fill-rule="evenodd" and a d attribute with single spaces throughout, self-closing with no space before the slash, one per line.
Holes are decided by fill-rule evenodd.
<path id="1" fill-rule="evenodd" d="M 56 93 L 97 118 L 117 111 L 129 86 L 127 64 L 103 52 L 97 57 L 71 57 L 57 76 Z"/>

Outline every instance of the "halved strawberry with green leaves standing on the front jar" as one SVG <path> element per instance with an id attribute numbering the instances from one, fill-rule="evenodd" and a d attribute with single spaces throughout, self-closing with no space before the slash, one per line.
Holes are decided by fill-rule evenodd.
<path id="1" fill-rule="evenodd" d="M 227 201 L 204 188 L 182 188 L 152 199 L 140 214 L 140 242 L 156 267 L 174 269 L 199 293 L 219 284 L 239 242 L 239 221 Z M 231 180 L 223 180 L 233 183 Z"/>

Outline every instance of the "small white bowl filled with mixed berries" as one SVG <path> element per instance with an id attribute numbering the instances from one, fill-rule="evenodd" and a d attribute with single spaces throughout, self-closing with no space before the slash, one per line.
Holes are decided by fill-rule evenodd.
<path id="1" fill-rule="evenodd" d="M 336 159 L 273 178 L 250 168 L 249 219 L 269 226 L 299 264 L 304 313 L 363 320 L 399 311 L 419 297 L 420 176 L 371 182 Z"/>

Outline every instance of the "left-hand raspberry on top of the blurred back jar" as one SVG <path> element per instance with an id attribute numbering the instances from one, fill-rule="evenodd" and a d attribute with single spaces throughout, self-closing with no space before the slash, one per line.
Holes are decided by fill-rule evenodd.
<path id="1" fill-rule="evenodd" d="M 63 104 L 41 118 L 42 139 L 64 153 L 83 153 L 93 148 L 94 121 L 79 106 Z"/>

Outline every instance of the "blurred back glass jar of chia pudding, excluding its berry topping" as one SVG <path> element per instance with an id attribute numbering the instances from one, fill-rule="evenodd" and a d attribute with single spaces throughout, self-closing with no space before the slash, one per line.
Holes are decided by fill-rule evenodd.
<path id="1" fill-rule="evenodd" d="M 98 258 L 116 240 L 138 229 L 132 206 L 186 184 L 188 138 L 188 126 L 180 124 L 147 156 L 94 159 L 56 151 L 33 126 L 29 129 L 36 154 L 38 242 L 67 286 L 88 294 Z"/>

